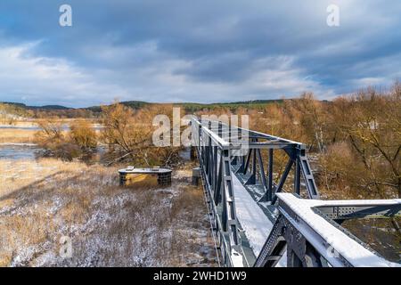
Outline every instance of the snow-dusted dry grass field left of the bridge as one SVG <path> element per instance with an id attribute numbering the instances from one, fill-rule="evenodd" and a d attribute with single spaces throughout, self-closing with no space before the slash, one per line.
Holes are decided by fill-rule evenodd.
<path id="1" fill-rule="evenodd" d="M 0 265 L 213 265 L 202 191 L 119 187 L 117 168 L 0 160 Z M 151 188 L 151 189 L 150 189 Z M 72 258 L 59 256 L 61 236 Z"/>

